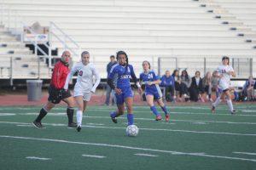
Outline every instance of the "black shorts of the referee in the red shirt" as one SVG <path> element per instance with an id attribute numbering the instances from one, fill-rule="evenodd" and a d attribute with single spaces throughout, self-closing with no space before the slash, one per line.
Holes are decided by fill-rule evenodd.
<path id="1" fill-rule="evenodd" d="M 48 101 L 53 104 L 59 104 L 62 99 L 67 99 L 71 97 L 69 90 L 66 91 L 64 89 L 56 89 L 52 86 L 49 86 L 48 92 L 49 92 Z"/>

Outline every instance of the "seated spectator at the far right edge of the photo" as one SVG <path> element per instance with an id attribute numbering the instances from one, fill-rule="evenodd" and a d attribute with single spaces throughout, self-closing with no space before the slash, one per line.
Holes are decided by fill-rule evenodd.
<path id="1" fill-rule="evenodd" d="M 254 99 L 254 88 L 255 87 L 255 80 L 253 80 L 253 77 L 248 77 L 244 87 L 243 87 L 243 94 L 247 97 L 248 101 L 253 101 Z"/>

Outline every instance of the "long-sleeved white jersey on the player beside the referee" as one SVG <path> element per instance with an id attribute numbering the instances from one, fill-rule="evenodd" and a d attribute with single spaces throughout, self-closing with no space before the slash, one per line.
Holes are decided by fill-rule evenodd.
<path id="1" fill-rule="evenodd" d="M 78 78 L 74 87 L 75 94 L 78 93 L 76 91 L 82 91 L 83 93 L 95 93 L 97 86 L 101 82 L 101 77 L 95 66 L 91 63 L 84 65 L 82 62 L 79 62 L 74 65 L 67 76 L 64 88 L 68 88 L 68 82 L 70 82 L 71 78 L 76 72 L 78 72 Z M 96 82 L 94 85 L 93 76 L 96 77 Z"/>

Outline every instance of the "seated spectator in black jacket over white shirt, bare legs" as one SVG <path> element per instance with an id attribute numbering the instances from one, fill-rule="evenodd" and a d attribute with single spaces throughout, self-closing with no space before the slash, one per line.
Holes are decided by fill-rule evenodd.
<path id="1" fill-rule="evenodd" d="M 200 77 L 200 71 L 195 71 L 195 77 L 192 77 L 191 86 L 189 88 L 190 99 L 197 102 L 198 99 L 201 99 L 201 102 L 205 102 L 202 98 L 204 93 L 202 79 Z"/>

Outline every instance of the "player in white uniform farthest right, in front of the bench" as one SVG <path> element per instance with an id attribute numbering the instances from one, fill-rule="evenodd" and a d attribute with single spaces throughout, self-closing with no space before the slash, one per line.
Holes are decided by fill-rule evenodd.
<path id="1" fill-rule="evenodd" d="M 215 100 L 214 103 L 212 103 L 212 113 L 215 112 L 215 108 L 218 104 L 226 97 L 227 98 L 227 104 L 230 108 L 230 113 L 234 114 L 236 111 L 233 108 L 232 100 L 231 100 L 231 94 L 230 94 L 230 78 L 236 77 L 236 73 L 234 69 L 230 66 L 230 58 L 227 56 L 224 56 L 222 58 L 222 64 L 219 65 L 217 68 L 218 71 L 218 77 L 219 77 L 219 88 L 222 90 L 222 94 Z"/>

